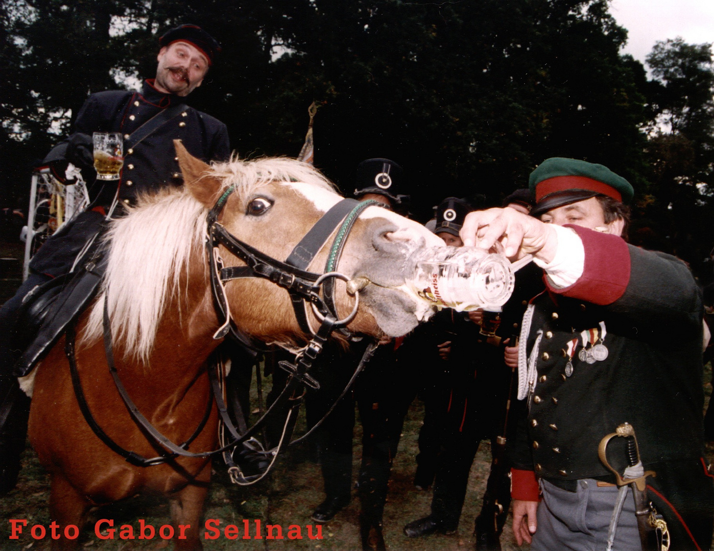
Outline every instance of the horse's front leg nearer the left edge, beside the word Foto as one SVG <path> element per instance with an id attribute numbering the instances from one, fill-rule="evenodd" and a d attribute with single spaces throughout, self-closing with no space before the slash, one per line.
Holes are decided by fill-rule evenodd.
<path id="1" fill-rule="evenodd" d="M 79 537 L 69 540 L 65 533 L 75 535 L 74 530 L 66 530 L 74 525 L 81 531 L 86 522 L 86 515 L 91 503 L 67 482 L 64 476 L 53 474 L 51 480 L 49 513 L 52 520 L 59 525 L 59 540 L 52 540 L 52 551 L 75 551 L 79 549 Z"/>

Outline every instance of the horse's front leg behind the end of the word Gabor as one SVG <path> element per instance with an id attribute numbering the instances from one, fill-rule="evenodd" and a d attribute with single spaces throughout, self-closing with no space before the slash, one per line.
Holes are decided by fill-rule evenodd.
<path id="1" fill-rule="evenodd" d="M 206 465 L 208 478 L 211 475 L 211 463 Z M 199 476 L 198 479 L 203 477 Z M 169 496 L 171 501 L 171 520 L 174 523 L 174 551 L 201 551 L 201 520 L 203 504 L 208 494 L 208 481 L 189 484 L 183 490 Z M 185 537 L 185 539 L 183 539 Z"/>

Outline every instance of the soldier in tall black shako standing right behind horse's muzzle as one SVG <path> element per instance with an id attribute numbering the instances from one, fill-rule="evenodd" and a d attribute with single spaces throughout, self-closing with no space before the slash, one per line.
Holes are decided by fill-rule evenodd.
<path id="1" fill-rule="evenodd" d="M 376 200 L 385 208 L 406 215 L 408 195 L 403 170 L 392 160 L 368 159 L 356 170 L 354 196 Z M 316 522 L 329 522 L 351 499 L 354 403 L 363 428 L 362 460 L 358 475 L 360 534 L 363 549 L 386 549 L 382 517 L 392 460 L 396 455 L 404 416 L 416 395 L 411 361 L 403 358 L 403 339 L 384 338 L 358 376 L 353 393 L 345 396 L 318 429 L 318 455 L 326 498 L 313 511 Z M 353 374 L 366 341 L 353 342 L 348 351 L 338 344 L 326 347 L 316 361 L 321 389 L 308 395 L 308 424 L 316 423 L 338 398 Z M 406 350 L 406 349 L 405 349 Z"/>

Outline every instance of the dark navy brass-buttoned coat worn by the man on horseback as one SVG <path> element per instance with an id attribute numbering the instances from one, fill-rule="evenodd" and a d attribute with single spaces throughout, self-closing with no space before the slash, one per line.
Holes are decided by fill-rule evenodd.
<path id="1" fill-rule="evenodd" d="M 183 103 L 185 99 L 159 92 L 154 88 L 153 80 L 145 81 L 141 92 L 94 93 L 77 115 L 75 133 L 57 145 L 44 162 L 51 164 L 71 160 L 77 164 L 79 159 L 72 155 L 72 149 L 78 143 L 86 147 L 91 143 L 92 133 L 121 132 L 126 139 L 161 110 Z M 141 192 L 154 192 L 166 185 L 181 185 L 183 180 L 178 170 L 174 140 L 181 140 L 188 153 L 206 162 L 228 160 L 231 153 L 226 125 L 206 113 L 186 108 L 144 138 L 133 150 L 124 151 L 121 179 L 106 182 L 103 189 L 97 189 L 101 184 L 98 180 L 90 188 L 91 208 L 53 235 L 35 254 L 30 268 L 50 276 L 67 272 L 86 240 L 99 230 L 104 210 L 114 199 L 117 185 L 119 201 L 127 205 L 133 203 Z M 87 175 L 92 170 L 91 166 L 79 164 L 89 182 Z"/>

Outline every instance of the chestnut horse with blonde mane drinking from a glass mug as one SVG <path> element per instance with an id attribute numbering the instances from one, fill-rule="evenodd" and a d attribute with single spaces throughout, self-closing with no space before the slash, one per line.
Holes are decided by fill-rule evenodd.
<path id="1" fill-rule="evenodd" d="M 213 401 L 206 359 L 220 340 L 223 319 L 214 308 L 206 261 L 209 211 L 225 201 L 218 219 L 231 234 L 275 259 L 285 259 L 310 227 L 341 200 L 316 170 L 288 159 L 233 160 L 209 167 L 177 143 L 185 185 L 143 197 L 111 223 L 109 261 L 94 305 L 76 326 L 76 370 L 86 403 L 107 436 L 145 457 L 165 453 L 132 419 L 107 369 L 103 316 L 109 316 L 116 371 L 126 392 L 151 424 L 174 443 L 190 438 Z M 229 187 L 235 190 L 226 193 Z M 227 197 L 227 199 L 226 199 Z M 339 272 L 368 281 L 348 328 L 377 336 L 406 334 L 431 307 L 404 286 L 405 259 L 418 247 L 440 244 L 416 222 L 370 206 L 348 235 Z M 226 266 L 243 262 L 218 247 Z M 328 247 L 310 269 L 322 272 Z M 343 282 L 336 285 L 339 314 L 353 308 Z M 288 293 L 267 279 L 225 285 L 235 326 L 254 339 L 301 346 L 306 335 Z M 105 309 L 106 301 L 106 309 Z M 309 314 L 313 326 L 319 322 Z M 29 435 L 51 474 L 51 518 L 82 527 L 94 505 L 141 490 L 164 493 L 171 503 L 176 550 L 201 549 L 199 524 L 211 476 L 208 457 L 174 457 L 140 467 L 105 445 L 83 418 L 69 376 L 65 339 L 36 369 Z M 191 443 L 192 452 L 217 447 L 216 408 Z M 185 539 L 178 539 L 178 525 Z M 73 549 L 62 537 L 53 548 Z"/>

